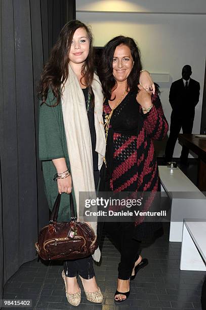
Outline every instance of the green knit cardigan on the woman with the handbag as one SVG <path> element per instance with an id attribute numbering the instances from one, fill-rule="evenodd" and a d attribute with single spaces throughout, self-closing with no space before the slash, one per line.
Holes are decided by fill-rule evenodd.
<path id="1" fill-rule="evenodd" d="M 49 90 L 47 101 L 48 105 L 54 105 L 56 98 L 53 92 Z M 67 168 L 70 171 L 69 156 L 67 150 L 66 135 L 62 114 L 61 102 L 51 107 L 47 104 L 39 103 L 39 159 L 42 161 L 43 175 L 45 181 L 45 192 L 50 210 L 52 210 L 55 199 L 58 195 L 57 182 L 53 180 L 56 174 L 56 168 L 52 162 L 53 159 L 65 158 Z M 76 202 L 72 188 L 72 197 L 74 201 L 74 210 L 76 212 Z M 58 213 L 58 221 L 69 221 L 70 204 L 69 195 L 61 194 L 61 203 Z"/>

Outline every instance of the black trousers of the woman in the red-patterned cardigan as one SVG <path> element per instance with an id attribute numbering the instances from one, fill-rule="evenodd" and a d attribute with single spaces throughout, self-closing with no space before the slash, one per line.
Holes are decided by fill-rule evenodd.
<path id="1" fill-rule="evenodd" d="M 118 278 L 128 280 L 140 253 L 141 242 L 133 238 L 135 224 L 133 222 L 106 222 L 104 227 L 121 254 Z"/>

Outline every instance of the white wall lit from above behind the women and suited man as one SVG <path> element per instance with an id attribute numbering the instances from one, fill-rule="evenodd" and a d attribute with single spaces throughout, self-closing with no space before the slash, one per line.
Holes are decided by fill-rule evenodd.
<path id="1" fill-rule="evenodd" d="M 200 82 L 201 89 L 193 126 L 193 133 L 199 133 L 206 56 L 206 1 L 76 0 L 76 10 L 76 18 L 92 26 L 95 46 L 104 46 L 119 34 L 131 36 L 141 48 L 144 68 L 153 73 L 170 74 L 169 83 L 156 81 L 161 87 L 162 106 L 169 123 L 171 83 L 181 78 L 183 65 L 190 64 L 192 78 Z M 117 10 L 121 13 L 114 13 Z M 183 14 L 184 11 L 189 13 Z M 181 146 L 177 143 L 174 157 L 179 157 L 180 152 Z"/>

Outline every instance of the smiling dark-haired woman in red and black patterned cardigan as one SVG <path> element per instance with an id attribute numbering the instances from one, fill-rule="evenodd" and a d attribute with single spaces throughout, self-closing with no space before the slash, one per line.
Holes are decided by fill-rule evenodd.
<path id="1" fill-rule="evenodd" d="M 166 136 L 168 123 L 158 87 L 153 94 L 152 88 L 144 89 L 139 84 L 141 70 L 140 51 L 132 38 L 117 36 L 106 44 L 98 72 L 105 97 L 106 134 L 101 190 L 114 193 L 160 190 L 153 140 Z M 139 241 L 151 237 L 159 226 L 157 222 L 146 223 L 143 219 L 105 223 L 121 254 L 115 302 L 129 297 L 130 280 L 148 263 L 138 255 Z"/>

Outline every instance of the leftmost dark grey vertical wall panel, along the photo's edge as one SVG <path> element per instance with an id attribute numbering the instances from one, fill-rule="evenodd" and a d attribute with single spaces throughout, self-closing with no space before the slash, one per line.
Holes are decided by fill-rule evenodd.
<path id="1" fill-rule="evenodd" d="M 3 196 L 4 232 L 4 283 L 19 266 L 19 185 L 18 185 L 18 140 L 16 107 L 16 72 L 13 1 L 2 0 L 2 71 L 3 118 L 1 173 Z M 12 214 L 12 216 L 11 216 Z M 11 238 L 12 236 L 12 238 Z M 7 265 L 10 262 L 10 265 Z"/>

